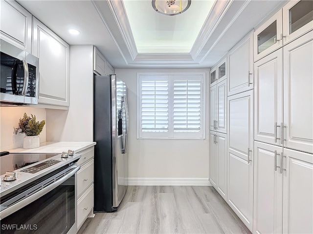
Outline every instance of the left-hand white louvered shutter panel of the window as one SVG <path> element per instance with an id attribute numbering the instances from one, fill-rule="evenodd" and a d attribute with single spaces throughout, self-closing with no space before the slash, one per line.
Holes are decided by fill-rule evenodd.
<path id="1" fill-rule="evenodd" d="M 168 132 L 168 81 L 143 80 L 141 83 L 142 132 Z"/>

